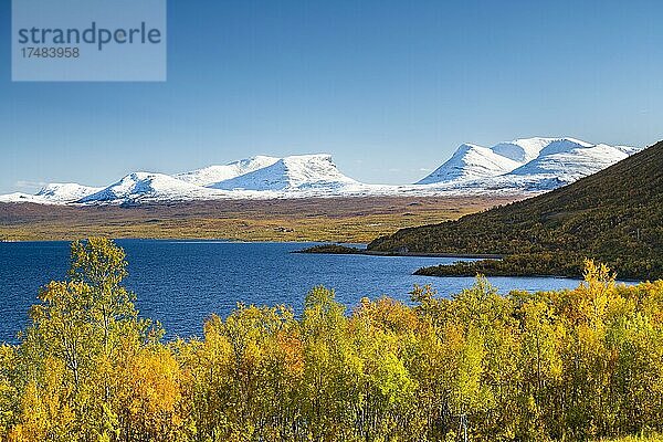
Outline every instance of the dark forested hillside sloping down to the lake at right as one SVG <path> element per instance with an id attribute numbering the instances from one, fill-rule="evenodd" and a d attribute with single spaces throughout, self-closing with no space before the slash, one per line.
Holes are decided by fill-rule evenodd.
<path id="1" fill-rule="evenodd" d="M 368 250 L 504 256 L 418 272 L 425 275 L 578 276 L 590 257 L 623 278 L 663 278 L 663 141 L 549 193 L 403 229 Z"/>

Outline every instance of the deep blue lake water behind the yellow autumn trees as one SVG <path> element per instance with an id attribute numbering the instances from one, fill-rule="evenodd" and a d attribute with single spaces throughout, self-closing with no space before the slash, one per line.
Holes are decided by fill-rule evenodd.
<path id="1" fill-rule="evenodd" d="M 457 259 L 290 253 L 303 243 L 120 240 L 129 262 L 126 286 L 138 297 L 143 316 L 158 319 L 167 337 L 200 336 L 212 313 L 225 316 L 238 303 L 287 304 L 301 312 L 316 285 L 336 290 L 348 307 L 364 296 L 408 301 L 414 284 L 431 284 L 441 296 L 470 287 L 472 277 L 413 276 L 425 265 Z M 0 243 L 0 343 L 15 343 L 28 323 L 39 287 L 63 280 L 69 267 L 66 242 Z M 492 277 L 508 293 L 575 287 L 578 281 L 556 277 Z"/>

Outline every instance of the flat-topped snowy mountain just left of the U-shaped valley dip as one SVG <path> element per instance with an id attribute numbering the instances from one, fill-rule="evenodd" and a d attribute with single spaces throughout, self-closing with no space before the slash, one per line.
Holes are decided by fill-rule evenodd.
<path id="1" fill-rule="evenodd" d="M 273 165 L 211 187 L 224 190 L 306 190 L 338 189 L 355 185 L 336 168 L 330 155 L 298 155 L 281 158 Z"/>

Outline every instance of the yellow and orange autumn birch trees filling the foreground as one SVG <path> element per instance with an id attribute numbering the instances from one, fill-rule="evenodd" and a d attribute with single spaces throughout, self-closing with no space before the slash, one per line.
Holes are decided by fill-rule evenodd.
<path id="1" fill-rule="evenodd" d="M 663 282 L 588 261 L 572 291 L 240 305 L 165 341 L 108 240 L 72 245 L 17 346 L 0 347 L 6 441 L 613 440 L 663 430 Z M 173 275 L 176 277 L 176 275 Z M 652 439 L 653 440 L 653 439 Z"/>

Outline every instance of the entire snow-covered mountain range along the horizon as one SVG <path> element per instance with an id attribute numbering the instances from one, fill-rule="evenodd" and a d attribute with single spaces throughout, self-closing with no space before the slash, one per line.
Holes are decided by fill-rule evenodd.
<path id="1" fill-rule="evenodd" d="M 537 193 L 596 173 L 639 148 L 575 138 L 524 138 L 492 147 L 461 145 L 413 185 L 368 185 L 341 173 L 327 154 L 256 156 L 222 166 L 165 175 L 133 172 L 106 187 L 51 183 L 36 194 L 0 196 L 0 202 L 122 204 L 155 201 L 362 196 Z"/>

